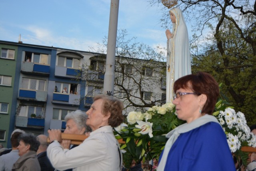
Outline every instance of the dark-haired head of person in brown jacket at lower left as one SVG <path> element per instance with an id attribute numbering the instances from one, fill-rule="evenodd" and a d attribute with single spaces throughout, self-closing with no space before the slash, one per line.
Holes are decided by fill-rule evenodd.
<path id="1" fill-rule="evenodd" d="M 40 145 L 40 142 L 36 140 L 36 137 L 32 134 L 21 134 L 19 136 L 19 145 L 18 145 L 18 150 L 19 150 L 19 155 L 22 156 L 29 151 L 37 151 L 38 147 Z"/>

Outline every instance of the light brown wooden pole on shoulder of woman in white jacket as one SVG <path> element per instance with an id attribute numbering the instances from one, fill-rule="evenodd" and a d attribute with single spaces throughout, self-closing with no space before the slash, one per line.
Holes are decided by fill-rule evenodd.
<path id="1" fill-rule="evenodd" d="M 88 136 L 83 134 L 71 134 L 71 133 L 61 133 L 62 139 L 70 139 L 71 144 L 79 145 L 82 143 Z M 50 139 L 48 137 L 47 142 L 50 143 Z M 124 144 L 125 141 L 123 139 L 118 139 L 118 142 Z"/>

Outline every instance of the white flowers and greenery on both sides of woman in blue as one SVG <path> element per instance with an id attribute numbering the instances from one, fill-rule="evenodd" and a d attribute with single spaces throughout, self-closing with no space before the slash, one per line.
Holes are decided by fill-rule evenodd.
<path id="1" fill-rule="evenodd" d="M 250 133 L 244 114 L 236 113 L 233 107 L 227 107 L 226 104 L 220 99 L 216 103 L 213 115 L 216 116 L 227 135 L 231 152 L 242 159 L 246 165 L 248 153 L 242 152 L 241 147 L 256 147 L 256 136 Z M 172 103 L 153 106 L 145 113 L 131 111 L 126 121 L 115 128 L 116 138 L 125 141 L 120 146 L 125 167 L 130 168 L 133 160 L 139 164 L 142 160 L 158 159 L 167 141 L 166 133 L 182 123 L 185 122 L 178 119 Z"/>

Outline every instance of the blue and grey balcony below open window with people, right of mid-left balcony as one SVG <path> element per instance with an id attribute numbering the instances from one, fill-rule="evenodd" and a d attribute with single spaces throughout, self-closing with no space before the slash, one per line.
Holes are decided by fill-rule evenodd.
<path id="1" fill-rule="evenodd" d="M 80 105 L 80 94 L 53 93 L 52 103 L 65 105 Z"/>

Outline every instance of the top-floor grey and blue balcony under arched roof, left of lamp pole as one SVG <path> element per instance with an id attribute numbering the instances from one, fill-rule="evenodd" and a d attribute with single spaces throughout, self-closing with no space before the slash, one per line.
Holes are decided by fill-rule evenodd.
<path id="1" fill-rule="evenodd" d="M 64 66 L 55 66 L 56 77 L 81 78 L 82 71 Z"/>

